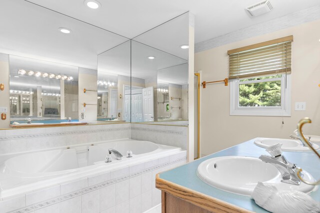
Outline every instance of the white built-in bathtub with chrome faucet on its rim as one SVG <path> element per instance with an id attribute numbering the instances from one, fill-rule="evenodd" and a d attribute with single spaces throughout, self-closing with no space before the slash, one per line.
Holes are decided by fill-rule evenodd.
<path id="1" fill-rule="evenodd" d="M 110 148 L 119 151 L 123 155 L 122 160 L 116 160 L 111 154 L 112 162 L 105 163 L 104 158 Z M 132 151 L 132 158 L 126 157 L 128 150 Z M 181 148 L 122 139 L 0 156 L 0 199 L 178 152 Z"/>

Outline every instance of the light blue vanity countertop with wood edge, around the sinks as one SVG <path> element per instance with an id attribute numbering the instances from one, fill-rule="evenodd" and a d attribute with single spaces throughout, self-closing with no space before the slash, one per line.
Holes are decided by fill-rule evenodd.
<path id="1" fill-rule="evenodd" d="M 202 193 L 204 195 L 213 197 L 215 199 L 227 202 L 229 204 L 241 207 L 252 212 L 268 213 L 268 211 L 265 211 L 264 209 L 257 206 L 250 197 L 236 195 L 216 189 L 205 184 L 196 176 L 196 169 L 198 165 L 210 158 L 221 156 L 246 156 L 258 158 L 261 154 L 269 155 L 265 152 L 264 148 L 255 146 L 253 144 L 254 140 L 255 139 L 249 140 L 242 144 L 197 159 L 173 170 L 160 173 L 159 177 L 163 180 L 189 188 L 193 191 Z M 302 168 L 303 171 L 310 173 L 314 179 L 320 179 L 320 161 L 313 152 L 283 152 L 283 155 L 289 162 L 297 164 L 297 166 Z M 315 201 L 320 201 L 320 190 L 312 192 L 310 196 Z"/>

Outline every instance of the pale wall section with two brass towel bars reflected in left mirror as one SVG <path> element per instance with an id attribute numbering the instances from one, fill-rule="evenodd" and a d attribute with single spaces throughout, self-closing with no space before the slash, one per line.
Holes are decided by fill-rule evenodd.
<path id="1" fill-rule="evenodd" d="M 83 93 L 83 89 L 97 90 L 97 71 L 93 69 L 86 69 L 79 67 L 79 78 L 78 78 L 78 113 L 82 113 L 82 109 L 85 111 L 84 119 L 79 116 L 79 121 L 96 121 L 97 116 L 97 92 L 86 91 Z M 86 105 L 83 107 L 83 103 L 95 104 Z"/>

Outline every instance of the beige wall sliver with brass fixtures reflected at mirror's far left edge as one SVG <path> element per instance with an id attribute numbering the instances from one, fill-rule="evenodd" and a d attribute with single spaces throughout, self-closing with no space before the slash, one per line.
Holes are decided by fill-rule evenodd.
<path id="1" fill-rule="evenodd" d="M 9 56 L 0 53 L 0 84 L 4 84 L 4 90 L 0 90 L 0 107 L 6 107 L 6 119 L 0 119 L 0 129 L 9 128 L 10 105 L 9 105 Z M 2 112 L 0 113 L 0 115 Z"/>

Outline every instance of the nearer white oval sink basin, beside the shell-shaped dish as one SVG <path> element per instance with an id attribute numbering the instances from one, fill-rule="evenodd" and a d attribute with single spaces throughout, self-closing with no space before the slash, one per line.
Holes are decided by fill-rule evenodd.
<path id="1" fill-rule="evenodd" d="M 197 176 L 205 183 L 220 190 L 251 196 L 258 182 L 274 184 L 280 190 L 297 190 L 310 193 L 314 186 L 300 183 L 299 186 L 281 182 L 278 170 L 257 158 L 226 156 L 203 161 L 197 168 Z M 303 172 L 304 179 L 314 181 Z"/>

